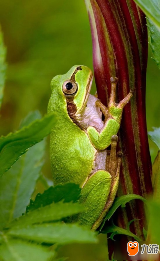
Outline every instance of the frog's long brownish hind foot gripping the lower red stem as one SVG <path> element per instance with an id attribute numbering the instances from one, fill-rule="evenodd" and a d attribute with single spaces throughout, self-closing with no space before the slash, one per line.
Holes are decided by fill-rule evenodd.
<path id="1" fill-rule="evenodd" d="M 119 151 L 116 154 L 116 147 L 118 142 L 118 136 L 113 135 L 111 137 L 111 150 L 107 150 L 107 157 L 106 157 L 106 171 L 107 173 L 111 174 L 111 186 L 110 186 L 110 193 L 107 198 L 106 204 L 104 206 L 104 209 L 97 219 L 97 221 L 94 223 L 92 229 L 95 230 L 99 227 L 101 224 L 104 216 L 109 211 L 113 200 L 115 198 L 115 195 L 117 193 L 118 184 L 119 184 L 119 174 L 120 174 L 120 164 L 121 164 L 121 158 L 122 158 L 122 152 Z"/>

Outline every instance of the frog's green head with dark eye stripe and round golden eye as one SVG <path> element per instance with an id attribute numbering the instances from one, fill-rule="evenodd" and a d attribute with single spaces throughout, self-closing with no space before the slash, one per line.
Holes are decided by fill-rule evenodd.
<path id="1" fill-rule="evenodd" d="M 60 77 L 61 76 L 61 77 Z M 70 117 L 85 110 L 93 80 L 92 71 L 83 65 L 73 66 L 66 74 L 53 78 L 51 87 L 56 87 L 60 99 L 66 100 Z M 56 82 L 56 84 L 55 84 Z"/>

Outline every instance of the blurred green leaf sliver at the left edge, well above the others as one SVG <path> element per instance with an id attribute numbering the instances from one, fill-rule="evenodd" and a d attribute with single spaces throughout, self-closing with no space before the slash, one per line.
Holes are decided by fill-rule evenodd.
<path id="1" fill-rule="evenodd" d="M 3 98 L 3 89 L 4 89 L 4 82 L 5 82 L 5 73 L 6 73 L 6 48 L 3 44 L 3 36 L 1 33 L 1 27 L 0 27 L 0 107 L 2 103 Z"/>

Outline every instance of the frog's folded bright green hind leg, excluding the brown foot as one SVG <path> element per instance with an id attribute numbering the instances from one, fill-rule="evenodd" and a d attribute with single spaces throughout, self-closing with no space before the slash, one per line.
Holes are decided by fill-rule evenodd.
<path id="1" fill-rule="evenodd" d="M 78 216 L 81 224 L 93 227 L 102 213 L 111 187 L 111 175 L 106 170 L 97 170 L 87 180 L 81 191 L 80 202 L 84 203 L 86 211 Z"/>

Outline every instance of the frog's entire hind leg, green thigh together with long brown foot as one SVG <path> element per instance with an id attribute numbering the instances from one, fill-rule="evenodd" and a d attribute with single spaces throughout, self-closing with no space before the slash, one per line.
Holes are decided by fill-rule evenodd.
<path id="1" fill-rule="evenodd" d="M 122 153 L 116 154 L 118 137 L 111 137 L 111 151 L 107 151 L 106 170 L 97 170 L 90 175 L 82 188 L 80 202 L 85 204 L 87 211 L 79 214 L 81 224 L 97 229 L 115 198 Z"/>

